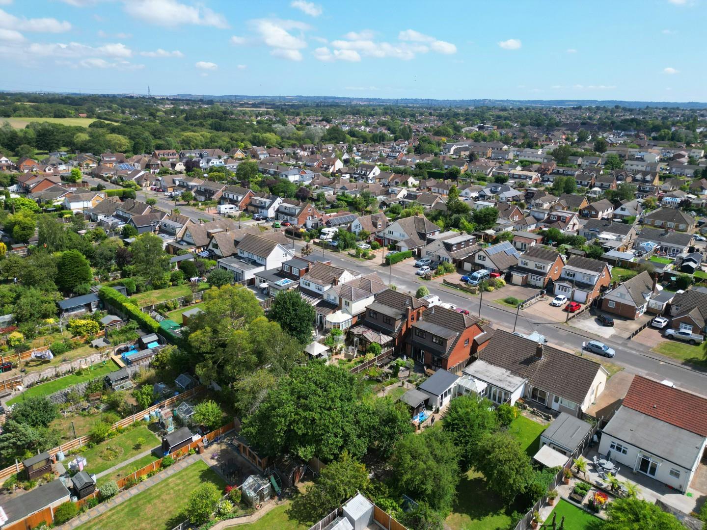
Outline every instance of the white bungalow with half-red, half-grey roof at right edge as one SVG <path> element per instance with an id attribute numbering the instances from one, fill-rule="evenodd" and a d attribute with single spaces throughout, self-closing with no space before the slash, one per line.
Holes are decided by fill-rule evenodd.
<path id="1" fill-rule="evenodd" d="M 707 399 L 636 375 L 599 452 L 686 492 L 707 444 Z"/>

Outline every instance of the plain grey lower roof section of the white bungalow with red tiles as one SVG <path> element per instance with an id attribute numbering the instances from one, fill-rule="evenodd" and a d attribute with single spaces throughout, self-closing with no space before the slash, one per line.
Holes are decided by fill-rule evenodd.
<path id="1" fill-rule="evenodd" d="M 604 434 L 645 452 L 692 469 L 701 457 L 705 437 L 621 406 L 604 427 Z"/>

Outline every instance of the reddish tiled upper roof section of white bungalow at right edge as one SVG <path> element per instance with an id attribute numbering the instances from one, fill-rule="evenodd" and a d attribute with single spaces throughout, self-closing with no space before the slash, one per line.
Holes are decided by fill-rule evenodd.
<path id="1" fill-rule="evenodd" d="M 707 437 L 707 399 L 702 396 L 636 375 L 623 405 Z"/>

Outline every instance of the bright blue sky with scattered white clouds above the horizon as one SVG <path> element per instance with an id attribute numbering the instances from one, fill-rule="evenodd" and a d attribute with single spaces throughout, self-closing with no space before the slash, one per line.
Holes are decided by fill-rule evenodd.
<path id="1" fill-rule="evenodd" d="M 0 0 L 0 88 L 707 101 L 707 0 Z"/>

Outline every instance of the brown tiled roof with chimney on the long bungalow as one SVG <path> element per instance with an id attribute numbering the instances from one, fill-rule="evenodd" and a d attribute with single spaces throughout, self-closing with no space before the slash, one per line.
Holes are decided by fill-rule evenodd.
<path id="1" fill-rule="evenodd" d="M 525 377 L 533 387 L 581 404 L 602 365 L 547 344 L 542 346 L 539 359 L 535 356 L 537 346 L 535 341 L 496 329 L 479 359 Z"/>

